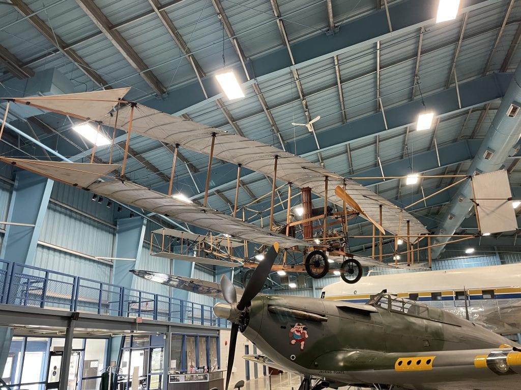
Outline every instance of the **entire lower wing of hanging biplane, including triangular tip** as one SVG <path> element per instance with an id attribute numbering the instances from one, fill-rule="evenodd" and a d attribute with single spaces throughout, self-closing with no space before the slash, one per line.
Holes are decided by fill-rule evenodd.
<path id="1" fill-rule="evenodd" d="M 226 232 L 232 237 L 239 237 L 259 244 L 272 245 L 278 242 L 281 248 L 310 244 L 293 237 L 282 236 L 279 233 L 261 228 L 260 226 L 242 222 L 207 207 L 169 197 L 167 194 L 153 191 L 138 184 L 120 179 L 110 179 L 93 183 L 115 165 L 82 164 L 68 162 L 45 162 L 1 158 L 8 164 L 15 163 L 23 169 L 39 175 L 62 181 L 71 186 L 79 186 L 107 198 L 137 206 L 140 209 L 156 214 L 170 216 L 182 222 L 199 226 L 207 230 Z M 93 183 L 93 184 L 91 184 Z"/>

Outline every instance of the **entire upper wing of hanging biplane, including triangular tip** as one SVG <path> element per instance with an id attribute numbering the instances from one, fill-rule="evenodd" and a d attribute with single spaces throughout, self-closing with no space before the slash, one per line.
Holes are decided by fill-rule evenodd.
<path id="1" fill-rule="evenodd" d="M 123 92 L 125 92 L 125 88 L 97 91 L 95 93 L 11 100 L 26 103 L 33 107 L 66 113 L 77 118 L 89 118 L 104 123 L 113 123 L 112 114 L 102 115 L 101 113 L 107 113 L 107 107 L 114 107 Z M 81 99 L 88 100 L 88 105 L 79 105 L 78 101 Z M 64 105 L 66 100 L 69 101 Z M 88 106 L 88 111 L 85 106 Z M 119 109 L 119 128 L 128 131 L 130 113 L 131 107 L 129 106 Z M 379 222 L 381 206 L 381 226 L 383 229 L 395 235 L 405 235 L 406 221 L 409 221 L 411 236 L 420 236 L 428 233 L 419 220 L 368 188 L 351 179 L 340 178 L 333 172 L 310 161 L 262 142 L 140 105 L 134 108 L 131 132 L 172 145 L 179 144 L 183 148 L 203 154 L 210 154 L 212 136 L 215 135 L 214 158 L 216 159 L 242 164 L 242 166 L 250 170 L 270 176 L 273 173 L 274 159 L 277 157 L 277 178 L 280 180 L 293 183 L 300 188 L 310 187 L 313 193 L 324 198 L 326 194 L 324 181 L 325 177 L 328 177 L 327 196 L 330 202 L 343 206 L 344 201 L 336 195 L 335 188 L 337 186 L 345 186 L 349 196 L 364 211 L 365 215 L 362 215 L 363 217 Z"/>

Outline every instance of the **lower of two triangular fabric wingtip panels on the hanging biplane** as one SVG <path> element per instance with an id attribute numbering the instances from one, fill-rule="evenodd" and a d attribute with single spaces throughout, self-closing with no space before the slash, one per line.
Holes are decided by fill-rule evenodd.
<path id="1" fill-rule="evenodd" d="M 120 167 L 117 164 L 87 164 L 56 161 L 22 160 L 0 157 L 6 164 L 62 181 L 74 187 L 89 187 L 94 181 Z"/>

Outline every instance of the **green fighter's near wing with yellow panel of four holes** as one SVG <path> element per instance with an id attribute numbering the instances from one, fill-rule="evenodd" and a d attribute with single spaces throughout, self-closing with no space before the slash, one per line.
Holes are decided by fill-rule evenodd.
<path id="1" fill-rule="evenodd" d="M 341 367 L 332 362 L 341 362 Z M 332 351 L 318 364 L 328 380 L 344 383 L 392 383 L 410 389 L 457 390 L 517 388 L 521 353 L 517 348 L 444 350 L 420 353 L 383 353 L 371 350 Z M 327 367 L 327 366 L 326 366 Z"/>

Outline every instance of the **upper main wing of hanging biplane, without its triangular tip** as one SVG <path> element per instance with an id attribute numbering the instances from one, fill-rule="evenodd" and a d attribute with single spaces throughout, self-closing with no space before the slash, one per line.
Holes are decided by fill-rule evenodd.
<path id="1" fill-rule="evenodd" d="M 128 131 L 130 107 L 119 111 L 118 127 Z M 134 109 L 132 134 L 158 139 L 168 144 L 179 144 L 199 153 L 209 154 L 212 135 L 216 134 L 214 158 L 229 161 L 250 170 L 272 175 L 274 159 L 278 156 L 277 178 L 295 186 L 311 187 L 312 192 L 325 197 L 325 177 L 329 177 L 328 200 L 343 206 L 343 201 L 336 195 L 335 188 L 343 186 L 344 180 L 312 162 L 275 147 L 241 137 L 236 134 L 220 131 L 200 123 L 188 121 L 148 107 L 138 106 Z M 427 229 L 411 214 L 391 204 L 368 188 L 353 180 L 345 179 L 346 191 L 371 219 L 379 221 L 380 205 L 382 205 L 382 226 L 394 234 L 405 234 L 406 221 L 410 221 L 412 236 L 427 234 Z"/>

